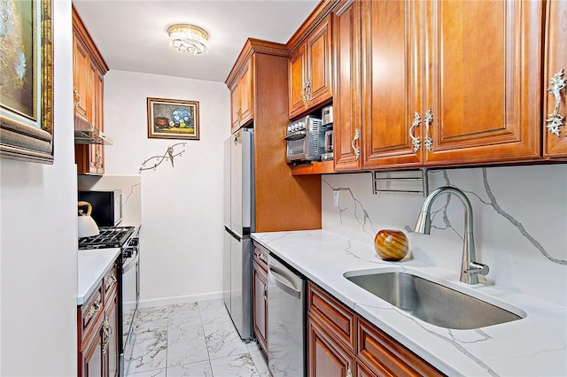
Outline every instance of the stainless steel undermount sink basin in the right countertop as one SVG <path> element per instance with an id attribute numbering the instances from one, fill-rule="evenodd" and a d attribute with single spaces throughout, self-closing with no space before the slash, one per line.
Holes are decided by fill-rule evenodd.
<path id="1" fill-rule="evenodd" d="M 345 277 L 402 311 L 439 327 L 464 330 L 523 318 L 499 306 L 411 273 L 368 273 L 350 276 L 346 273 Z"/>

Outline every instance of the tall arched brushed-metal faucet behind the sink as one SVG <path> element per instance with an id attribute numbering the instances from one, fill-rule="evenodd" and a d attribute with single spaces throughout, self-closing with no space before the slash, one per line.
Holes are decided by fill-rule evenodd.
<path id="1" fill-rule="evenodd" d="M 431 234 L 431 205 L 441 194 L 454 194 L 461 200 L 464 207 L 464 243 L 462 247 L 461 279 L 466 284 L 478 284 L 478 274 L 488 273 L 488 265 L 477 263 L 475 254 L 475 238 L 472 233 L 472 206 L 469 198 L 459 188 L 449 186 L 437 188 L 423 201 L 422 211 L 416 223 L 416 232 L 423 235 Z"/>

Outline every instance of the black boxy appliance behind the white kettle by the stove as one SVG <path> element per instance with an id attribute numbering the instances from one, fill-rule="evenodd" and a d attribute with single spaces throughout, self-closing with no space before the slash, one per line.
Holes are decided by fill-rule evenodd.
<path id="1" fill-rule="evenodd" d="M 79 191 L 79 200 L 92 205 L 90 216 L 98 227 L 115 227 L 122 220 L 122 191 Z"/>

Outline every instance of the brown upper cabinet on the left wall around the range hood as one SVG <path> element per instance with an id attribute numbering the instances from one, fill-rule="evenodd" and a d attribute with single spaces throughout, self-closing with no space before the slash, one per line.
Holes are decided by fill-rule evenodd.
<path id="1" fill-rule="evenodd" d="M 74 116 L 100 131 L 105 130 L 104 80 L 108 66 L 73 8 L 73 94 Z M 75 144 L 77 173 L 105 173 L 103 144 Z"/>

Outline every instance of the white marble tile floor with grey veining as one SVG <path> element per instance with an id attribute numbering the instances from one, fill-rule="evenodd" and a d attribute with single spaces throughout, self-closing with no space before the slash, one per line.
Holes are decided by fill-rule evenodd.
<path id="1" fill-rule="evenodd" d="M 141 308 L 132 377 L 270 377 L 256 342 L 243 342 L 222 300 Z"/>

